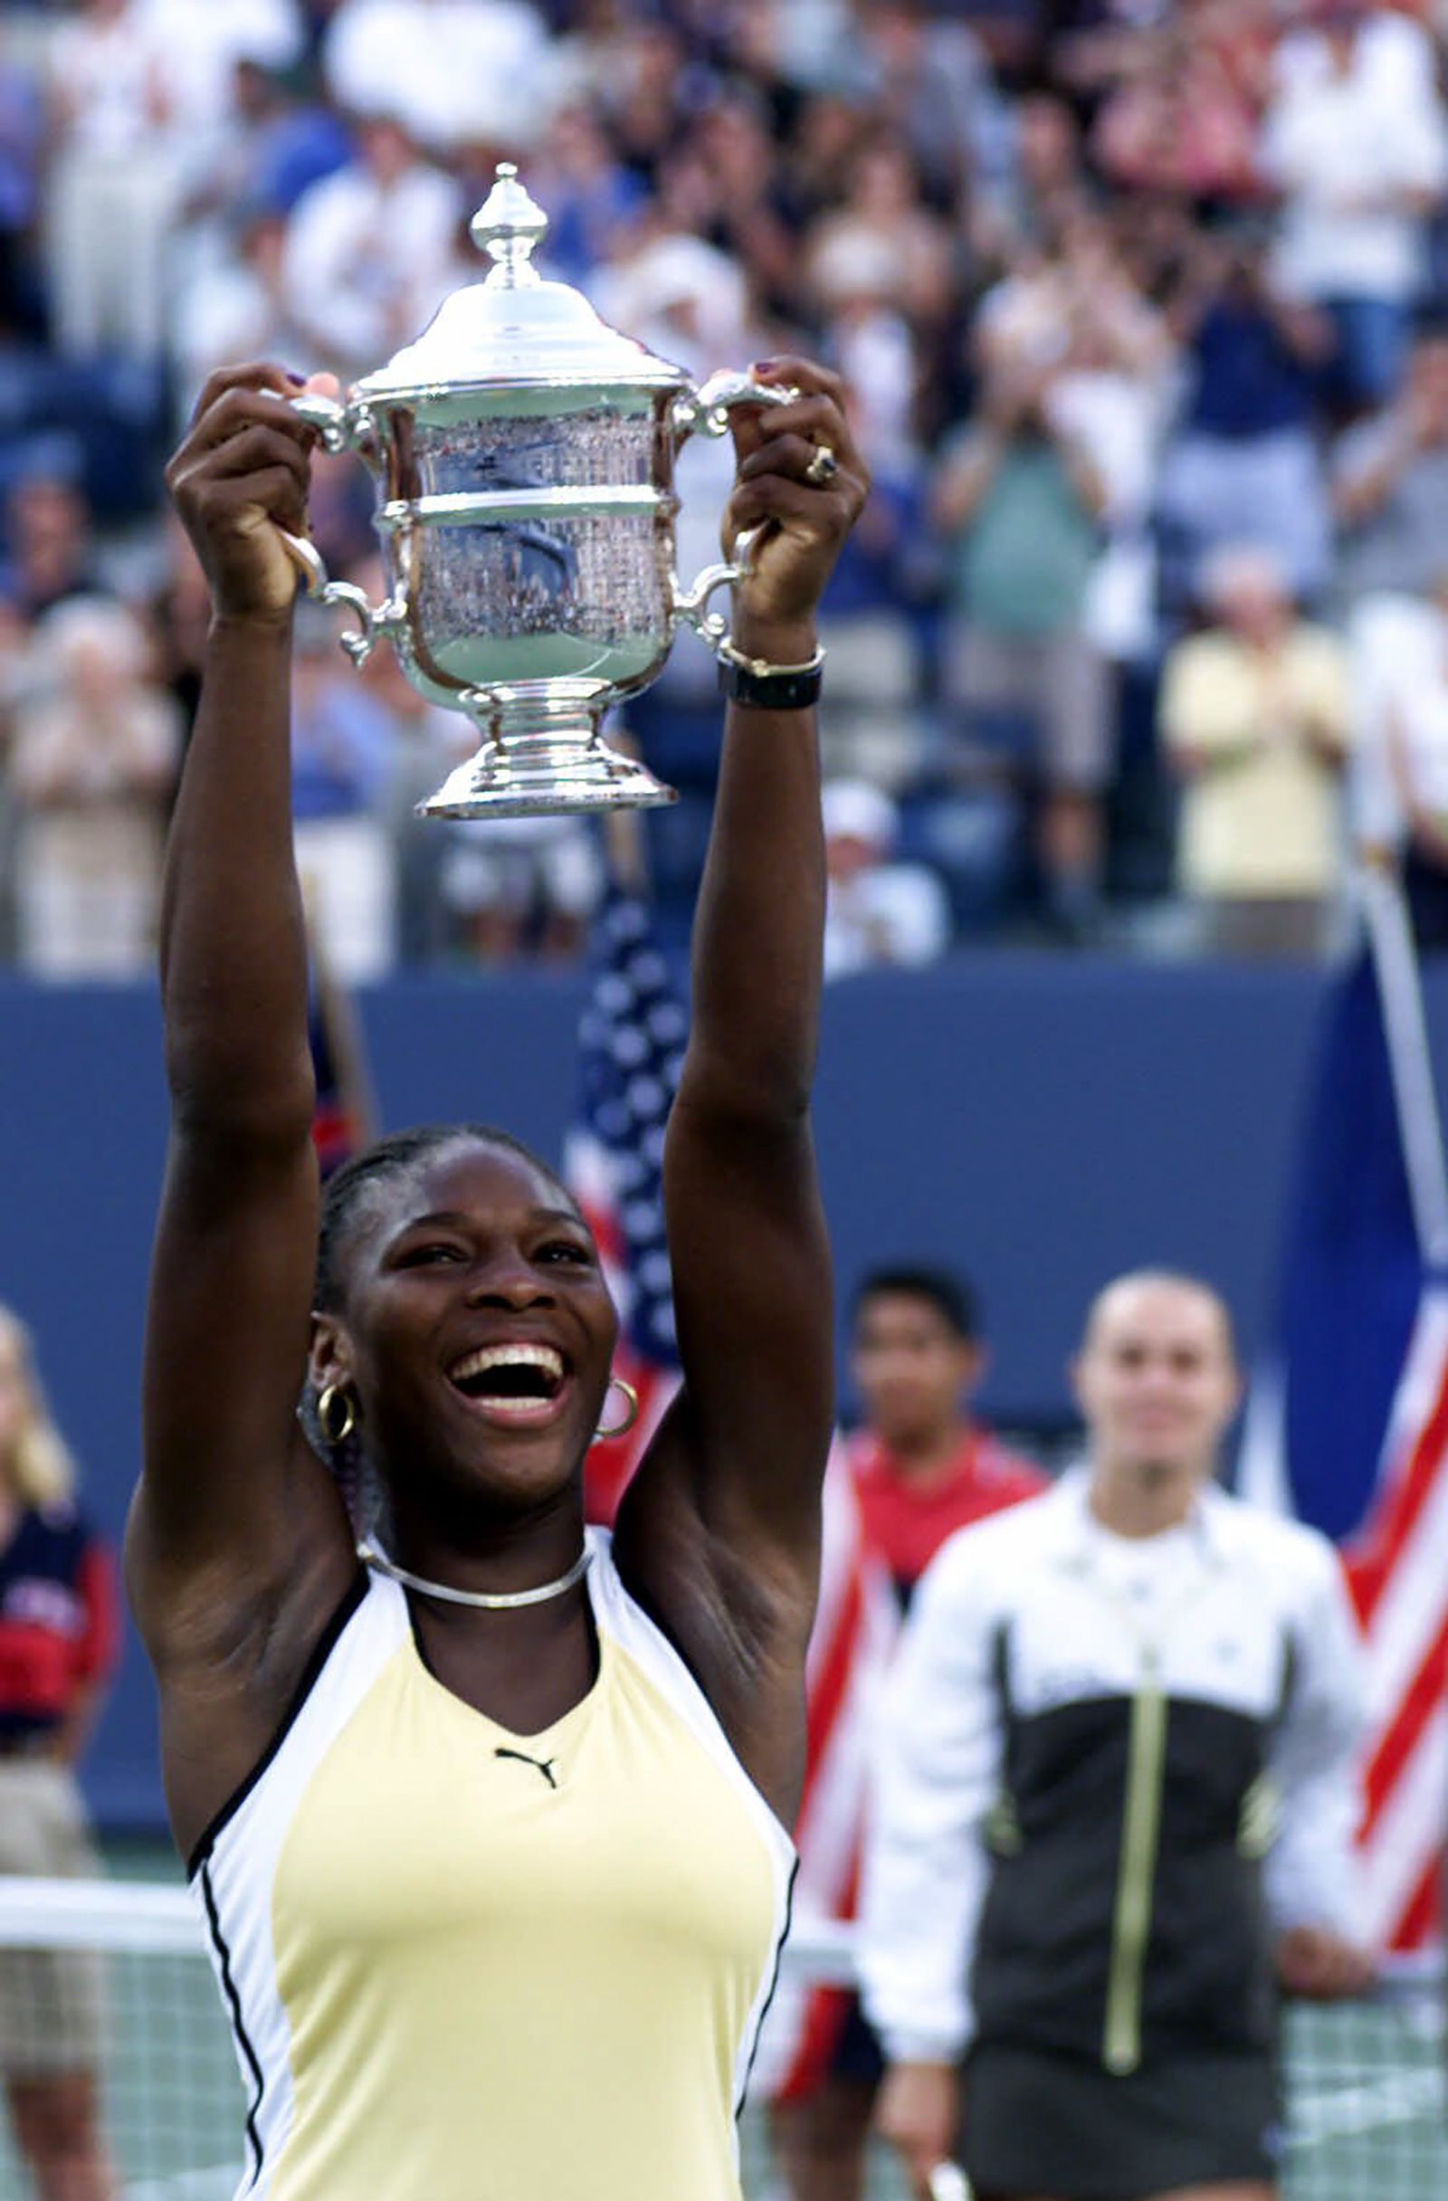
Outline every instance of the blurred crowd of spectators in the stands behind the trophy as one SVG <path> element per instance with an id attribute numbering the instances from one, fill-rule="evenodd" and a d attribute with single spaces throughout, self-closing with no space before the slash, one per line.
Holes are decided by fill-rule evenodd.
<path id="1" fill-rule="evenodd" d="M 1441 0 L 73 0 L 0 13 L 0 951 L 152 953 L 205 588 L 163 460 L 235 359 L 381 365 L 544 271 L 695 374 L 803 348 L 874 469 L 832 585 L 832 971 L 959 942 L 1318 955 L 1351 850 L 1448 940 Z M 678 566 L 728 451 L 689 447 Z M 312 530 L 383 592 L 372 489 Z M 627 731 L 687 922 L 717 768 L 682 636 Z M 330 618 L 297 839 L 343 977 L 568 957 L 579 821 L 418 825 L 473 746 Z"/>

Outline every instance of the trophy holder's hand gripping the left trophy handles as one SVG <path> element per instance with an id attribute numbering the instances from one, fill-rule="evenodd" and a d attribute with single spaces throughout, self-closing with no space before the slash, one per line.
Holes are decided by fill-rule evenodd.
<path id="1" fill-rule="evenodd" d="M 279 368 L 218 368 L 165 469 L 220 618 L 290 618 L 297 568 L 277 528 L 306 533 L 317 447 L 317 429 L 288 403 L 297 387 Z"/>

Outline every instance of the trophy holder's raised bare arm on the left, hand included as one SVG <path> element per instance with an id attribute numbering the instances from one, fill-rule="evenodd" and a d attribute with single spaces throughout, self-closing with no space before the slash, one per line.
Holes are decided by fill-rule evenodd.
<path id="1" fill-rule="evenodd" d="M 196 1721 L 200 1704 L 213 1717 L 227 1677 L 242 1770 L 271 1706 L 266 1684 L 257 1704 L 238 1693 L 266 1657 L 286 1666 L 299 1591 L 321 1598 L 321 1624 L 352 1567 L 341 1508 L 295 1426 L 317 1169 L 290 839 L 295 572 L 275 528 L 306 526 L 312 431 L 284 390 L 273 368 L 213 374 L 167 473 L 213 616 L 167 845 L 172 1140 L 145 1340 L 145 1468 L 128 1530 L 163 1730 L 187 1728 L 187 1704 Z M 180 1754 L 196 1754 L 189 1734 Z M 194 1814 L 180 1800 L 176 1816 Z"/>

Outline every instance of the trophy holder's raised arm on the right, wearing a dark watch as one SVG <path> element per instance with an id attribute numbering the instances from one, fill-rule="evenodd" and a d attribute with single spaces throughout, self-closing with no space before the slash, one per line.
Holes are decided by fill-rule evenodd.
<path id="1" fill-rule="evenodd" d="M 748 658 L 805 665 L 825 579 L 865 500 L 865 467 L 836 376 L 799 359 L 757 372 L 797 385 L 801 398 L 737 420 L 726 537 L 761 533 L 735 590 L 733 640 Z M 821 486 L 805 480 L 819 447 L 838 460 Z M 662 1505 L 678 1530 L 682 1510 L 702 1525 L 713 1583 L 737 1572 L 766 1605 L 764 1585 L 775 1585 L 803 1633 L 834 1354 L 810 1136 L 823 911 L 814 711 L 735 702 L 693 931 L 691 1037 L 665 1149 L 684 1391 L 618 1534 L 621 1558 L 654 1600 L 682 1605 L 689 1591 L 680 1594 L 658 1519 Z M 737 1620 L 735 1600 L 726 1602 Z"/>

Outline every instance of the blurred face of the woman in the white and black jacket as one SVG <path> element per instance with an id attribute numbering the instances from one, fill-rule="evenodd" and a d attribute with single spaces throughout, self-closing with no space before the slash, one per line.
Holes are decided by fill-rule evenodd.
<path id="1" fill-rule="evenodd" d="M 1092 1310 L 1074 1378 L 1098 1475 L 1213 1472 L 1237 1409 L 1232 1338 L 1215 1292 L 1177 1277 L 1122 1277 Z"/>

